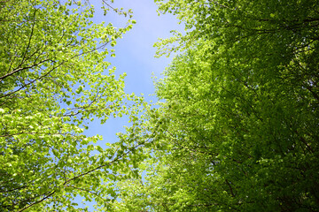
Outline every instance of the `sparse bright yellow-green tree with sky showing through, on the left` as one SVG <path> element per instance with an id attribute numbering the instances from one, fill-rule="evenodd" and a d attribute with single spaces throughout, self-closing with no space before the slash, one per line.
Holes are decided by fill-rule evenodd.
<path id="1" fill-rule="evenodd" d="M 83 134 L 89 121 L 127 113 L 123 78 L 105 58 L 126 27 L 93 24 L 89 2 L 0 3 L 0 208 L 78 211 L 74 197 L 105 211 L 115 198 L 114 169 L 130 150 L 101 148 Z M 112 46 L 106 49 L 106 46 Z M 84 208 L 83 208 L 84 209 Z"/>

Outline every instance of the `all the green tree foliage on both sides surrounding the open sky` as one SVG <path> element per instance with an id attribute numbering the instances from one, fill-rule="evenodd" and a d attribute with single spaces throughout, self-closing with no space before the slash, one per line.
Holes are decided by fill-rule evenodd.
<path id="1" fill-rule="evenodd" d="M 80 195 L 100 211 L 318 211 L 319 2 L 156 2 L 186 29 L 158 56 L 181 54 L 106 149 L 83 131 L 128 114 L 105 58 L 135 21 L 0 3 L 0 210 L 79 211 Z"/>

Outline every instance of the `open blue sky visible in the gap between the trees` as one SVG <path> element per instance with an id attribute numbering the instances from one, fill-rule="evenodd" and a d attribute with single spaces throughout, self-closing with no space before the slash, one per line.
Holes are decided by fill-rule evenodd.
<path id="1" fill-rule="evenodd" d="M 94 3 L 91 2 L 91 4 Z M 125 78 L 127 93 L 144 94 L 147 101 L 156 100 L 149 96 L 154 93 L 152 73 L 160 78 L 160 73 L 165 70 L 172 57 L 155 58 L 156 49 L 153 48 L 153 44 L 159 38 L 170 37 L 171 30 L 182 29 L 182 27 L 178 25 L 178 20 L 172 15 L 158 16 L 157 5 L 152 0 L 115 0 L 112 5 L 118 8 L 123 7 L 124 10 L 132 9 L 136 25 L 117 41 L 114 47 L 116 57 L 109 57 L 107 61 L 116 67 L 115 74 L 127 73 Z M 97 5 L 96 11 L 98 11 Z M 113 11 L 106 16 L 97 12 L 93 21 L 111 22 L 115 27 L 123 27 L 126 23 Z M 117 140 L 115 133 L 123 132 L 124 125 L 128 125 L 127 118 L 110 117 L 105 125 L 100 125 L 98 121 L 91 123 L 86 134 L 102 135 L 104 140 L 100 145 L 105 147 L 105 142 Z"/>

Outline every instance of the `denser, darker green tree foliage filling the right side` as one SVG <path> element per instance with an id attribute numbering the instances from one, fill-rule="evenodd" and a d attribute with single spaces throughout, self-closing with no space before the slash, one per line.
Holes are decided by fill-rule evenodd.
<path id="1" fill-rule="evenodd" d="M 319 2 L 167 0 L 187 34 L 128 132 L 152 140 L 115 211 L 319 210 Z M 174 44 L 175 42 L 175 44 Z"/>

